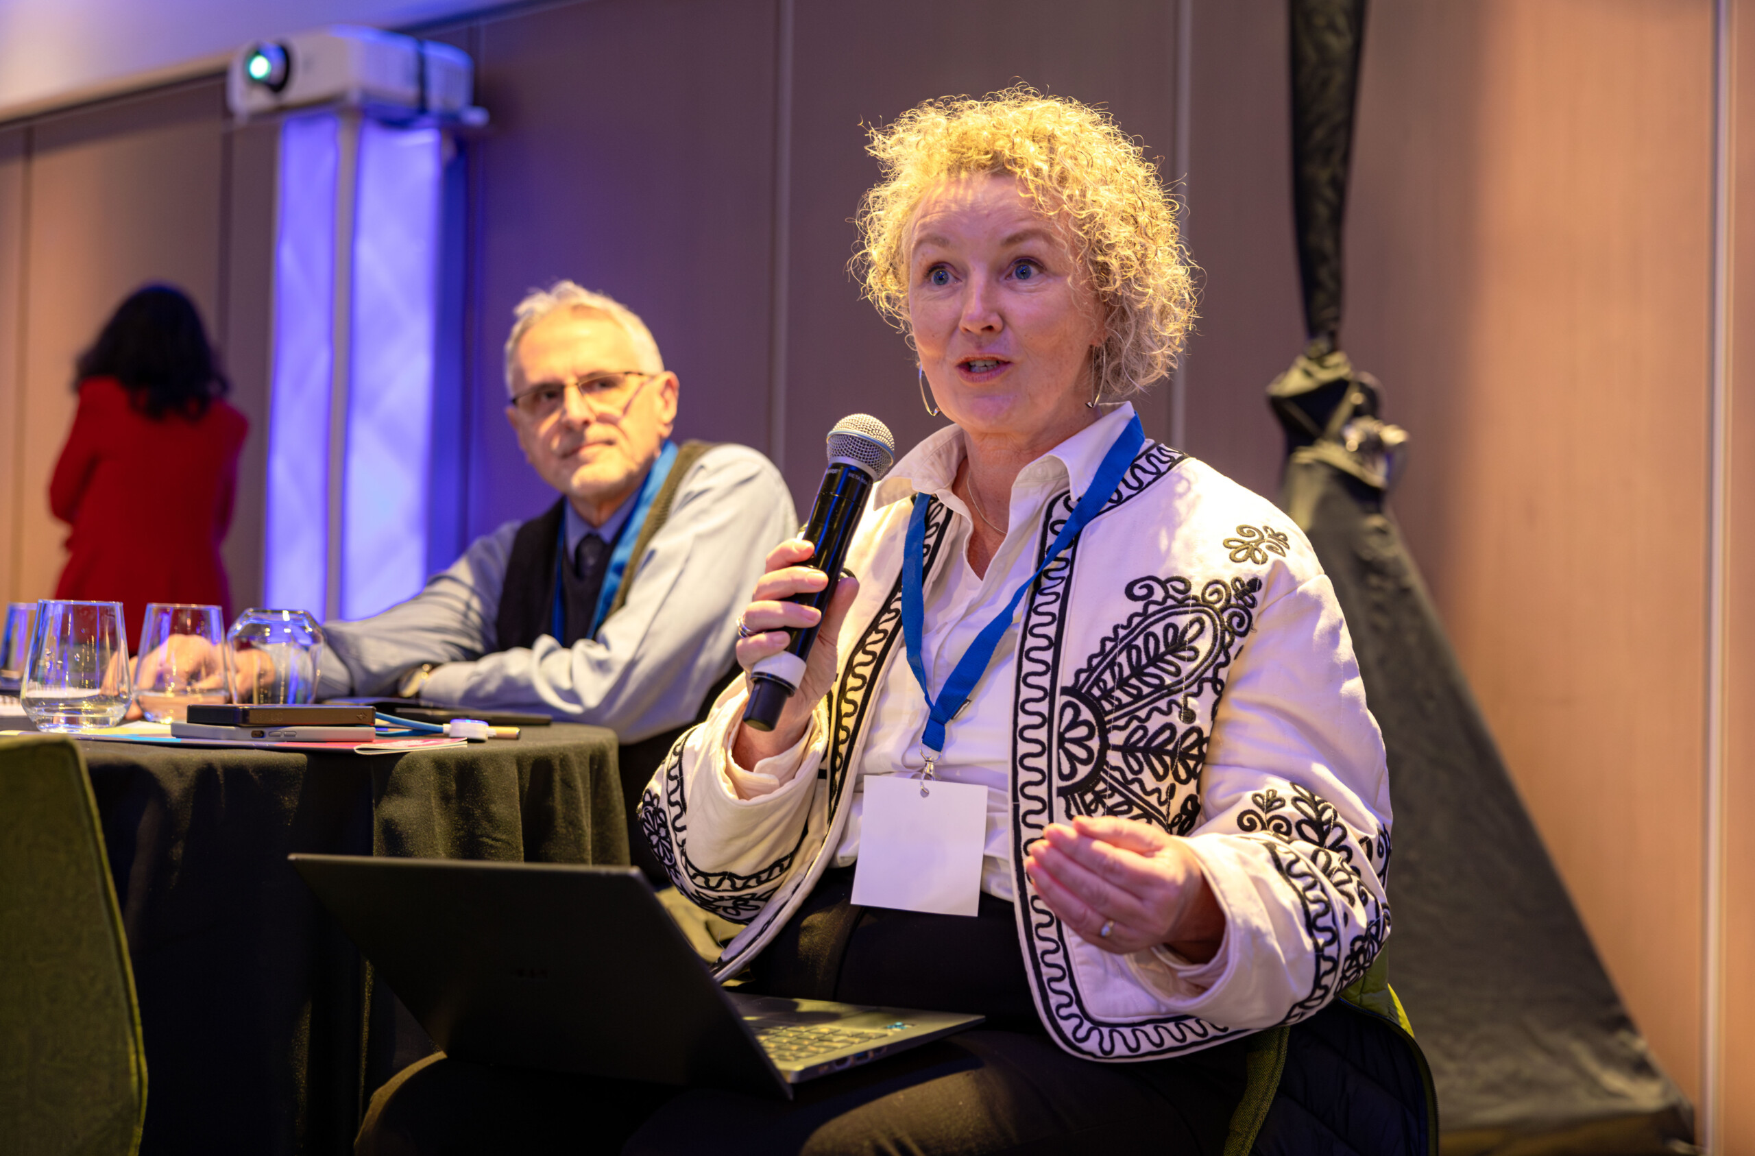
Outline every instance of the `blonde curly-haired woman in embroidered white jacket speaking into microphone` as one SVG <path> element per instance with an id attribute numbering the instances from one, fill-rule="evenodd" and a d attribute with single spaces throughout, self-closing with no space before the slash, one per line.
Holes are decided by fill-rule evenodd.
<path id="1" fill-rule="evenodd" d="M 821 624 L 799 693 L 760 731 L 730 688 L 642 821 L 677 888 L 746 924 L 720 961 L 746 991 L 986 1023 L 792 1105 L 428 1063 L 360 1151 L 1220 1152 L 1251 1040 L 1383 945 L 1383 742 L 1329 581 L 1128 403 L 1193 314 L 1157 170 L 1023 88 L 923 103 L 870 151 L 856 267 L 920 358 L 897 403 L 918 384 L 953 425 L 878 484 L 825 614 L 788 602 L 827 586 L 811 544 L 772 551 L 737 658 Z M 909 858 L 872 800 L 916 779 L 979 821 Z M 1399 1142 L 1388 1109 L 1353 1114 L 1358 1151 Z"/>

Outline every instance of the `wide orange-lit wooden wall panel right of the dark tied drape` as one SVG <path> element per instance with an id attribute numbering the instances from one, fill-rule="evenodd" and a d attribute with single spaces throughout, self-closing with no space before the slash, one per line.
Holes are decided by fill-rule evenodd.
<path id="1" fill-rule="evenodd" d="M 1395 510 L 1462 665 L 1690 1096 L 1711 16 L 1708 0 L 1372 5 L 1344 333 L 1415 435 Z"/>

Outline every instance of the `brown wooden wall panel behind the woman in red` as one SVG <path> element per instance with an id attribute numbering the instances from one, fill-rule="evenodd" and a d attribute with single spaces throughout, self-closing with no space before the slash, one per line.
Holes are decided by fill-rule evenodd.
<path id="1" fill-rule="evenodd" d="M 47 491 L 72 423 L 68 386 L 79 351 L 146 281 L 183 286 L 214 326 L 221 100 L 219 82 L 204 81 L 42 119 L 32 130 L 14 598 L 51 595 L 65 560 L 67 526 L 49 516 Z M 142 489 L 142 516 L 153 502 L 176 495 Z"/>

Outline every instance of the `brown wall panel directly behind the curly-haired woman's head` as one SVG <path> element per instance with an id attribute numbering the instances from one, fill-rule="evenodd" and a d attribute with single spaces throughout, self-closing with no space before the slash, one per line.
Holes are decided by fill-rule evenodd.
<path id="1" fill-rule="evenodd" d="M 923 30 L 930 28 L 930 35 Z M 848 275 L 860 195 L 878 181 L 862 125 L 930 96 L 1027 81 L 1104 103 L 1162 158 L 1176 154 L 1176 7 L 1162 0 L 800 4 L 793 54 L 786 477 L 800 516 L 823 475 L 823 437 L 849 412 L 890 425 L 906 449 L 939 428 L 902 337 Z M 1135 400 L 1169 437 L 1169 382 Z"/>

